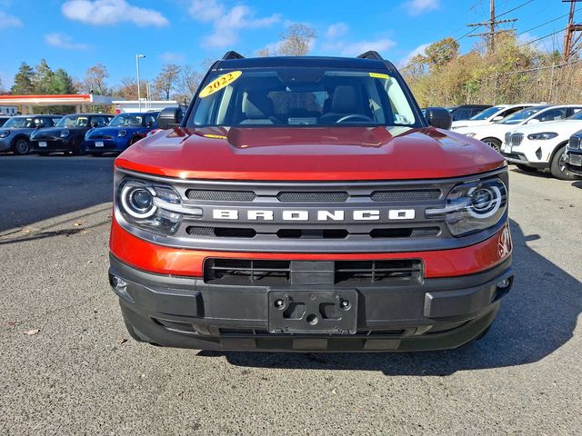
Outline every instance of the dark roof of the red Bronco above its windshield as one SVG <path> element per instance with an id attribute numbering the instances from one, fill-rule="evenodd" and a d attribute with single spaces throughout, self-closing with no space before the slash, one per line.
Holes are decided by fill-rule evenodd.
<path id="1" fill-rule="evenodd" d="M 303 66 L 307 68 L 361 68 L 368 70 L 394 69 L 394 65 L 377 59 L 360 57 L 332 57 L 332 56 L 269 56 L 246 57 L 242 59 L 225 59 L 213 65 L 214 70 L 241 69 L 241 68 L 269 68 L 276 66 Z"/>

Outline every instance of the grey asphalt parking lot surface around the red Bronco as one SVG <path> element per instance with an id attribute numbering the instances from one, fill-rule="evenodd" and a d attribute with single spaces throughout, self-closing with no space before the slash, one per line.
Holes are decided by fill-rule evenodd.
<path id="1" fill-rule="evenodd" d="M 516 283 L 480 342 L 216 354 L 125 332 L 112 163 L 0 155 L 0 434 L 582 433 L 582 181 L 512 167 Z"/>

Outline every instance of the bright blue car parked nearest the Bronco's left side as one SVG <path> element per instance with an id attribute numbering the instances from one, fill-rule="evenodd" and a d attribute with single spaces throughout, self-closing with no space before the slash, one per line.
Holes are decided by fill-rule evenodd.
<path id="1" fill-rule="evenodd" d="M 91 129 L 85 134 L 85 152 L 100 156 L 121 153 L 151 130 L 157 128 L 157 112 L 118 114 L 106 127 Z"/>

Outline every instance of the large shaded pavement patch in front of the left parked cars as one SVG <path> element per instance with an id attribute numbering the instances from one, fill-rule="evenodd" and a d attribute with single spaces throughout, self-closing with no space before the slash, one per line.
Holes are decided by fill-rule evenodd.
<path id="1" fill-rule="evenodd" d="M 0 158 L 0 233 L 113 197 L 113 157 Z"/>

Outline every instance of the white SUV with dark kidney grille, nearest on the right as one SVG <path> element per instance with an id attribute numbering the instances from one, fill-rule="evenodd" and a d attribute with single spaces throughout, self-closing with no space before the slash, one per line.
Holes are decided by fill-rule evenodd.
<path id="1" fill-rule="evenodd" d="M 582 111 L 566 120 L 522 125 L 507 132 L 501 154 L 524 171 L 549 169 L 561 180 L 575 180 L 566 168 L 566 146 L 572 134 L 582 129 Z"/>

